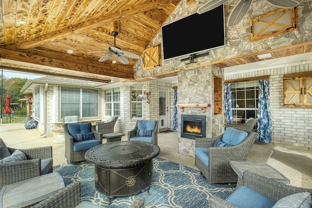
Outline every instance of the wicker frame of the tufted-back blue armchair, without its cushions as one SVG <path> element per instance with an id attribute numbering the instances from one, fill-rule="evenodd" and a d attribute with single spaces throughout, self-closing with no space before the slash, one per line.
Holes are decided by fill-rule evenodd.
<path id="1" fill-rule="evenodd" d="M 90 129 L 88 128 L 87 132 L 93 132 L 94 140 L 98 140 L 99 142 L 96 142 L 95 146 L 102 144 L 102 134 L 97 132 L 93 127 L 91 122 L 87 122 Z M 64 125 L 64 136 L 65 136 L 65 157 L 67 159 L 68 163 L 78 163 L 85 161 L 85 153 L 90 149 L 80 150 L 80 151 L 74 151 L 74 145 L 77 143 L 74 142 L 74 137 L 69 133 L 68 129 L 72 128 L 71 126 L 75 125 L 85 125 L 86 123 L 69 123 Z M 81 132 L 85 133 L 85 132 Z M 86 140 L 85 140 L 86 141 Z M 82 141 L 82 142 L 85 142 Z M 88 140 L 87 142 L 94 142 L 93 140 Z"/>

